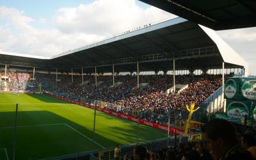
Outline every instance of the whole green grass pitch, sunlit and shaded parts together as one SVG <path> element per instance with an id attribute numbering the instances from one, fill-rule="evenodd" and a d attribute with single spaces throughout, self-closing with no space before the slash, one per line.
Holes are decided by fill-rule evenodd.
<path id="1" fill-rule="evenodd" d="M 92 150 L 93 109 L 40 94 L 0 94 L 0 160 L 12 160 L 16 103 L 19 105 L 15 160 Z M 167 132 L 139 125 L 139 141 L 163 137 L 167 137 Z M 96 111 L 95 149 L 136 140 L 137 123 Z"/>

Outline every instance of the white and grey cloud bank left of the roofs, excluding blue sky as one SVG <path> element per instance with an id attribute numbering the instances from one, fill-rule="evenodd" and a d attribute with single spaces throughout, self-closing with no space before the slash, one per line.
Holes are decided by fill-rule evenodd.
<path id="1" fill-rule="evenodd" d="M 55 28 L 38 29 L 24 11 L 0 7 L 0 50 L 51 56 L 171 16 L 158 8 L 140 8 L 135 0 L 97 0 L 59 8 Z M 39 23 L 51 20 L 43 18 Z"/>

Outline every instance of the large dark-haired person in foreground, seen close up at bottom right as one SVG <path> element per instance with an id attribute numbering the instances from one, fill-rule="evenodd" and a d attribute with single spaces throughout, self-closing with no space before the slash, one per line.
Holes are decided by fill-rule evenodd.
<path id="1" fill-rule="evenodd" d="M 235 126 L 224 119 L 213 119 L 203 126 L 203 138 L 214 160 L 252 160 L 252 155 L 242 148 Z"/>

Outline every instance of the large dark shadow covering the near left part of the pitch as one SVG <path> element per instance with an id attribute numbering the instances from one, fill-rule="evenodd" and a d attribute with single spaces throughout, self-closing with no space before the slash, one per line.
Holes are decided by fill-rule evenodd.
<path id="1" fill-rule="evenodd" d="M 9 159 L 13 154 L 14 125 L 15 112 L 0 112 L 0 148 L 7 148 Z M 92 130 L 52 112 L 19 111 L 17 126 L 16 160 L 63 156 L 93 148 L 89 140 L 93 139 Z M 116 144 L 97 133 L 95 141 L 105 148 Z M 98 144 L 94 144 L 94 148 L 102 149 Z"/>

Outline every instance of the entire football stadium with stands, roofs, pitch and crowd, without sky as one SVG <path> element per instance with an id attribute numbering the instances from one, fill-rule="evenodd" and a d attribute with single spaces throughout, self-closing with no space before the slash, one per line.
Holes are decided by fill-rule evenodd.
<path id="1" fill-rule="evenodd" d="M 52 57 L 0 51 L 0 160 L 256 158 L 256 78 L 215 32 L 256 27 L 256 3 L 140 1 L 177 16 Z"/>

